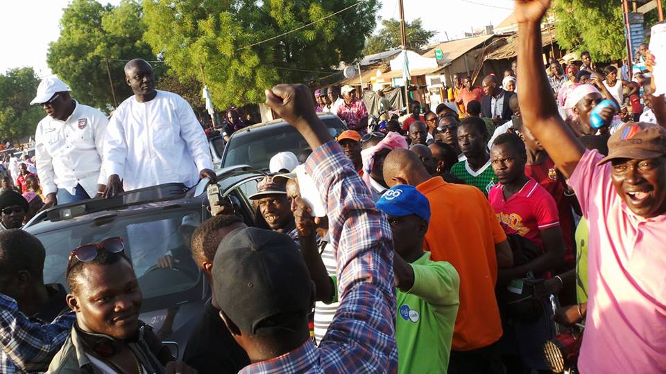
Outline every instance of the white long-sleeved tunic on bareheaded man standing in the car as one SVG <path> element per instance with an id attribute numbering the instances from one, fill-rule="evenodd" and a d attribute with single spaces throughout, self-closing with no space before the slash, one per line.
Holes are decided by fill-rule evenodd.
<path id="1" fill-rule="evenodd" d="M 104 170 L 118 175 L 123 188 L 165 183 L 194 186 L 199 172 L 212 169 L 206 134 L 185 99 L 157 91 L 139 103 L 131 96 L 119 105 L 105 136 Z"/>

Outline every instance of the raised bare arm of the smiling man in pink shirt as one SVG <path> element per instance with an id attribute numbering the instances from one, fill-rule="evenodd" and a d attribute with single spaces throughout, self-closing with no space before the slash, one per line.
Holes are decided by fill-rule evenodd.
<path id="1" fill-rule="evenodd" d="M 518 97 L 522 120 L 565 177 L 570 177 L 585 148 L 560 117 L 541 61 L 541 19 L 550 0 L 516 0 L 518 21 Z"/>

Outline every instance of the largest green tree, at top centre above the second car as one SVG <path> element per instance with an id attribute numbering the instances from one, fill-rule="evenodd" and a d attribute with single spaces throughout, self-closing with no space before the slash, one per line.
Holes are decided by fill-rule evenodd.
<path id="1" fill-rule="evenodd" d="M 144 39 L 181 79 L 203 82 L 205 74 L 217 107 L 259 103 L 264 89 L 278 82 L 306 82 L 321 76 L 309 71 L 330 71 L 359 57 L 379 5 L 363 0 L 333 15 L 355 3 L 144 0 Z"/>

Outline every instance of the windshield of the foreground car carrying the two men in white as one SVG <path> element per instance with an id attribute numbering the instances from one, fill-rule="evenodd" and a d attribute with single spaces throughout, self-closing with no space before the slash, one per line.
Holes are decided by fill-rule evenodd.
<path id="1" fill-rule="evenodd" d="M 99 217 L 57 231 L 37 233 L 46 248 L 44 282 L 65 285 L 65 269 L 72 249 L 106 238 L 121 237 L 132 260 L 144 299 L 189 290 L 198 283 L 199 270 L 191 258 L 190 243 L 201 213 L 196 208 Z M 30 231 L 28 229 L 28 231 Z M 157 262 L 172 256 L 176 265 L 160 269 Z"/>

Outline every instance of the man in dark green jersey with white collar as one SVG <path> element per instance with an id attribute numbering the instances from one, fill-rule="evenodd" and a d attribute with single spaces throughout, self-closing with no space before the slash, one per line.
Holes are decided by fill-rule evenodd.
<path id="1" fill-rule="evenodd" d="M 465 184 L 479 188 L 486 197 L 497 183 L 495 172 L 490 167 L 487 143 L 488 130 L 484 121 L 479 117 L 463 119 L 458 125 L 458 145 L 467 159 L 451 168 L 451 174 L 465 181 Z"/>

